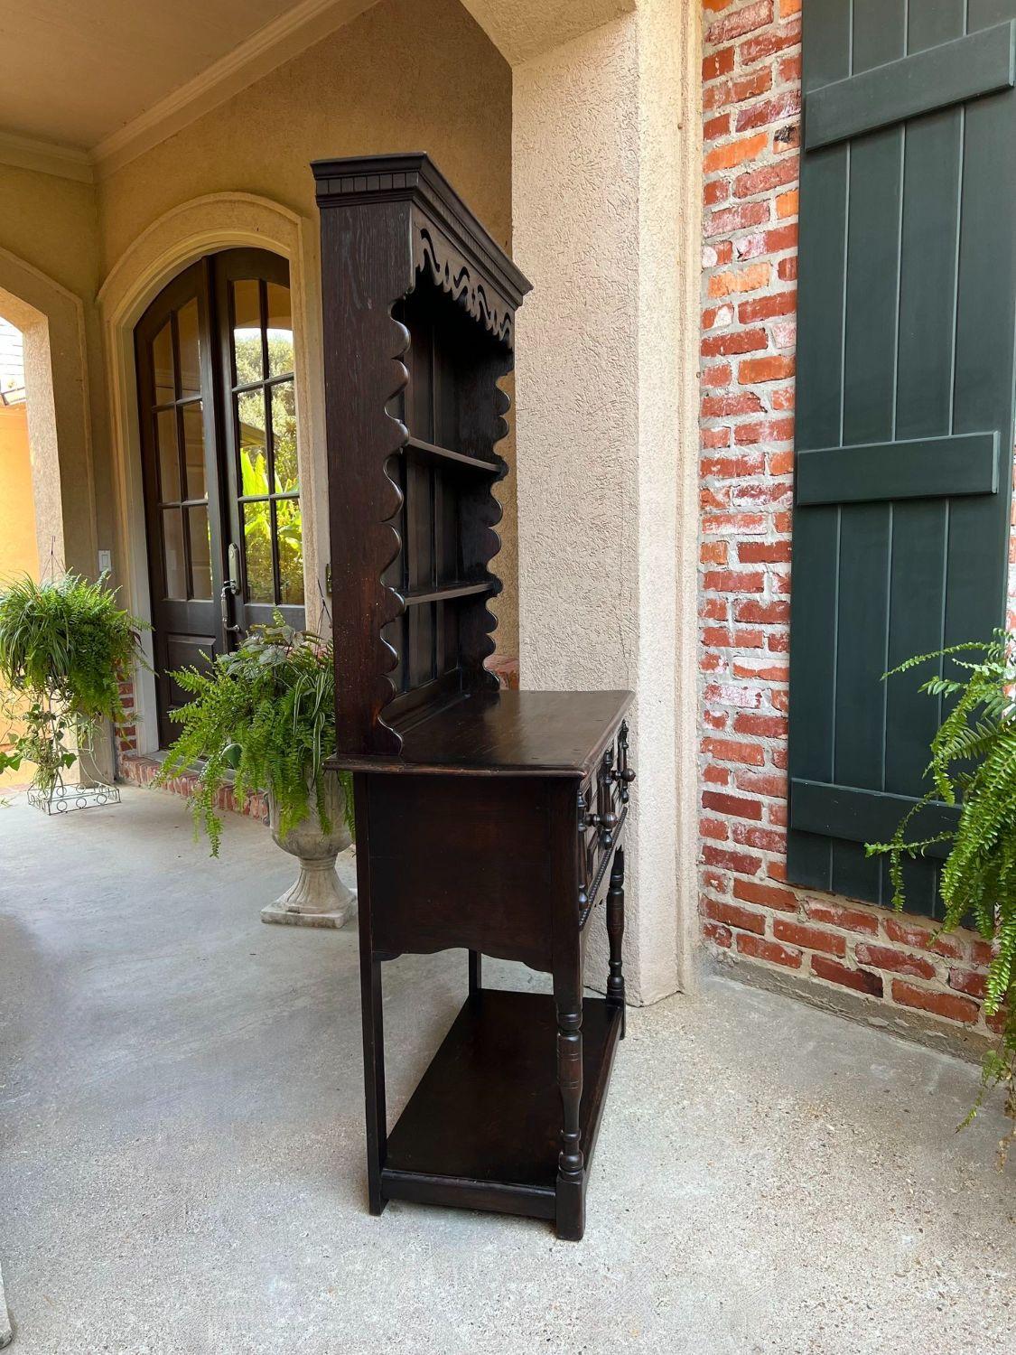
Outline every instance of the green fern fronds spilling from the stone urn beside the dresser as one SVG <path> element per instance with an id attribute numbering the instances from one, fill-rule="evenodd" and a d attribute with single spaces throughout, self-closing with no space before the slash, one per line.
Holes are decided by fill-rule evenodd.
<path id="1" fill-rule="evenodd" d="M 336 745 L 331 642 L 293 630 L 276 612 L 272 626 L 255 626 L 234 653 L 173 678 L 192 699 L 172 713 L 183 730 L 157 783 L 202 764 L 191 810 L 195 832 L 207 833 L 213 856 L 222 837 L 215 801 L 230 774 L 241 802 L 251 791 L 272 794 L 283 835 L 309 812 L 312 790 L 321 827 L 331 831 L 322 775 Z M 339 775 L 352 832 L 351 778 Z"/>

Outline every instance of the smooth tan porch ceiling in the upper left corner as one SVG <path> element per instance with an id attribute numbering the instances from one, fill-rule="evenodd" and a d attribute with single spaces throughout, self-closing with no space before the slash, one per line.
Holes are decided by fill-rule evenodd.
<path id="1" fill-rule="evenodd" d="M 0 129 L 92 149 L 305 0 L 0 0 Z"/>

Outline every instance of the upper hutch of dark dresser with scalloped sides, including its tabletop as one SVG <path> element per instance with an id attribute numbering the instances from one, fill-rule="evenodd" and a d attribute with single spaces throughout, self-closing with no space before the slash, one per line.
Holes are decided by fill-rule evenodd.
<path id="1" fill-rule="evenodd" d="M 493 486 L 508 472 L 499 381 L 530 285 L 425 154 L 313 169 L 336 764 L 588 771 L 625 694 L 501 695 L 484 667 L 501 591 Z"/>

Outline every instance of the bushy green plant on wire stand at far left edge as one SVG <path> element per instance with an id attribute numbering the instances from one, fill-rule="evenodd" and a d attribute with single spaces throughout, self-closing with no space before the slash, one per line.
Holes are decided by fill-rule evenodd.
<path id="1" fill-rule="evenodd" d="M 35 766 L 33 785 L 51 794 L 100 720 L 122 715 L 119 679 L 141 659 L 141 622 L 117 606 L 106 576 L 62 573 L 35 583 L 27 575 L 0 593 L 0 684 L 12 722 L 0 771 Z M 20 732 L 15 726 L 20 725 Z"/>

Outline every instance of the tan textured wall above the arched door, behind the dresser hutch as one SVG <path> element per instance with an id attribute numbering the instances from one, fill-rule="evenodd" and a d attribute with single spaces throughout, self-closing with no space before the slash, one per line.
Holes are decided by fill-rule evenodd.
<path id="1" fill-rule="evenodd" d="M 427 150 L 509 248 L 511 98 L 507 62 L 458 0 L 382 0 L 104 179 L 102 274 L 183 202 L 244 191 L 316 221 L 312 160 L 394 150 Z M 497 642 L 517 653 L 513 477 L 504 503 Z"/>

